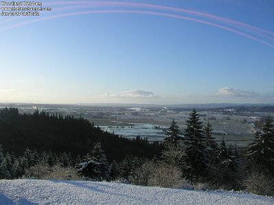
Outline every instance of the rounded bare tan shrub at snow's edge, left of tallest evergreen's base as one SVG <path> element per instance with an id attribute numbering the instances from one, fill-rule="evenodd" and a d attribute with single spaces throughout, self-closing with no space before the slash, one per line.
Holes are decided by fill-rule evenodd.
<path id="1" fill-rule="evenodd" d="M 182 172 L 178 167 L 171 165 L 158 165 L 148 180 L 148 186 L 154 187 L 182 187 Z"/>

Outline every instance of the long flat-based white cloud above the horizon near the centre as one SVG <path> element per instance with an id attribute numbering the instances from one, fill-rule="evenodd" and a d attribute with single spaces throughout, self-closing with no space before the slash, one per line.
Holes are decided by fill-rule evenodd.
<path id="1" fill-rule="evenodd" d="M 103 94 L 103 97 L 118 97 L 118 98 L 160 98 L 160 96 L 156 96 L 153 92 L 144 91 L 144 90 L 131 90 L 119 92 L 118 94 Z"/>

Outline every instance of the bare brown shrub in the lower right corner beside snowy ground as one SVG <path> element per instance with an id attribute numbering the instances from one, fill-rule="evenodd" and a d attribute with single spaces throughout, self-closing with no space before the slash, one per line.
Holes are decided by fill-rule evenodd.
<path id="1" fill-rule="evenodd" d="M 243 185 L 246 191 L 259 195 L 274 195 L 274 180 L 263 172 L 253 171 L 245 180 Z"/>

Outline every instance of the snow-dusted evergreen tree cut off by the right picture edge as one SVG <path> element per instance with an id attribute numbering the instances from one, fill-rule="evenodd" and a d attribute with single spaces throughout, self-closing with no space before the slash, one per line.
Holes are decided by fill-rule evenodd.
<path id="1" fill-rule="evenodd" d="M 274 173 L 274 126 L 269 116 L 262 128 L 263 133 L 256 133 L 249 144 L 247 157 L 254 166 L 259 166 L 269 174 Z"/>

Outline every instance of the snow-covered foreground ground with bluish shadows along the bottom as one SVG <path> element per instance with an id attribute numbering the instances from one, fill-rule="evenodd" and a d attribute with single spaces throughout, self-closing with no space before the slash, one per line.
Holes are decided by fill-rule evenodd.
<path id="1" fill-rule="evenodd" d="M 0 204 L 274 204 L 273 197 L 114 182 L 0 180 Z"/>

